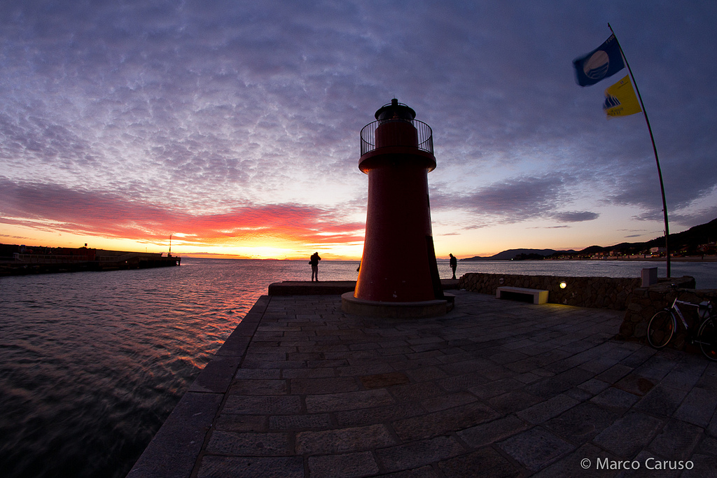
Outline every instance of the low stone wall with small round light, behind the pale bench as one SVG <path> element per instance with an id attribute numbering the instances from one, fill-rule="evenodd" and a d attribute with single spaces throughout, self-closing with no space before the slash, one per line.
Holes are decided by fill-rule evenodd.
<path id="1" fill-rule="evenodd" d="M 566 287 L 561 289 L 561 282 Z M 495 295 L 500 286 L 547 290 L 554 304 L 625 310 L 627 297 L 641 279 L 614 277 L 566 277 L 551 275 L 483 274 L 469 272 L 460 278 L 460 289 Z"/>

